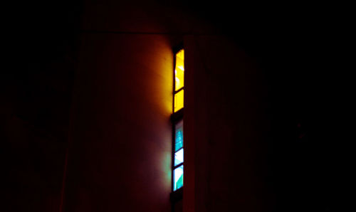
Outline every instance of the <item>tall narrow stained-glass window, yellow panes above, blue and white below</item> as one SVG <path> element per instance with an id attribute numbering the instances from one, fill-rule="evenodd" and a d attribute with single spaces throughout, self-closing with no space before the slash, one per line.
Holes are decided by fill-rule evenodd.
<path id="1" fill-rule="evenodd" d="M 174 57 L 174 88 L 173 88 L 173 154 L 172 154 L 172 189 L 177 191 L 183 186 L 184 176 L 184 50 L 175 53 Z"/>

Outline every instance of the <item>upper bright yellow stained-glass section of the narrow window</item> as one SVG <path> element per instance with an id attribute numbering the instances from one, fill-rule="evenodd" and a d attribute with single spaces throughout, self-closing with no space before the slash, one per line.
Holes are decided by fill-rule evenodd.
<path id="1" fill-rule="evenodd" d="M 174 68 L 174 92 L 184 88 L 184 50 L 176 54 L 176 65 Z M 182 109 L 184 106 L 184 90 L 174 94 L 174 112 Z"/>

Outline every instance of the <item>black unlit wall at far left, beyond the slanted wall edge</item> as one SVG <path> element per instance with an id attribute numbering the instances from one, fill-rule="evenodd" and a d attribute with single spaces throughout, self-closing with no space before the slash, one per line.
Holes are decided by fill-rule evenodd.
<path id="1" fill-rule="evenodd" d="M 4 5 L 0 211 L 60 208 L 79 9 L 73 1 Z"/>

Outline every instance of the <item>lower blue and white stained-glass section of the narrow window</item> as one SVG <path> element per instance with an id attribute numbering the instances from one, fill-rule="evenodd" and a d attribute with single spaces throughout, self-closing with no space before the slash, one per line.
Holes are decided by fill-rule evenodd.
<path id="1" fill-rule="evenodd" d="M 183 186 L 183 120 L 175 126 L 175 141 L 174 141 L 174 169 L 173 173 L 173 191 L 180 189 Z"/>

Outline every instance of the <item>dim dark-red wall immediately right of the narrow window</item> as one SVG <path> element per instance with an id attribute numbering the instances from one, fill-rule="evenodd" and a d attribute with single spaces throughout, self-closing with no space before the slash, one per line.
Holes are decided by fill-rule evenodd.
<path id="1" fill-rule="evenodd" d="M 224 36 L 184 41 L 184 211 L 267 211 L 263 72 Z"/>

